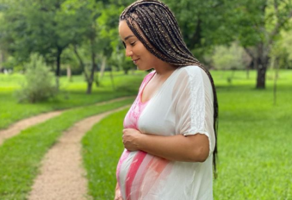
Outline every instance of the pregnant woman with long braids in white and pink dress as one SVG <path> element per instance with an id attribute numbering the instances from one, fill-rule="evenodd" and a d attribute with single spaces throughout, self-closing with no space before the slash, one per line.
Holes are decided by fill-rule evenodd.
<path id="1" fill-rule="evenodd" d="M 115 200 L 211 200 L 218 102 L 211 74 L 184 43 L 161 1 L 120 15 L 126 56 L 145 76 L 124 119 Z"/>

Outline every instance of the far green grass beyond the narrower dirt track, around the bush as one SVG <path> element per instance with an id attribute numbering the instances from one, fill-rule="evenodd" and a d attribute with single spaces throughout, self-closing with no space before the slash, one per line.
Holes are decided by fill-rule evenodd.
<path id="1" fill-rule="evenodd" d="M 19 89 L 24 80 L 21 74 L 0 74 L 0 129 L 8 127 L 13 122 L 26 117 L 51 110 L 60 110 L 76 106 L 86 106 L 100 101 L 127 97 L 137 93 L 138 85 L 143 80 L 144 72 L 136 72 L 135 75 L 126 76 L 120 72 L 114 74 L 113 90 L 109 74 L 106 73 L 101 80 L 101 86 L 92 87 L 92 94 L 86 93 L 86 82 L 83 76 L 73 76 L 73 81 L 67 81 L 66 77 L 60 78 L 60 94 L 55 99 L 41 103 L 17 103 L 14 91 Z"/>

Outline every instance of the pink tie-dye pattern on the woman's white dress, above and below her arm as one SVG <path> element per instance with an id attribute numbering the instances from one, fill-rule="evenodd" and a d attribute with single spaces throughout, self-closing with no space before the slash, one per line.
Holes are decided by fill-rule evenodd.
<path id="1" fill-rule="evenodd" d="M 138 129 L 138 120 L 143 113 L 143 110 L 147 106 L 149 101 L 142 102 L 142 94 L 145 86 L 154 76 L 154 72 L 148 74 L 143 80 L 139 92 L 138 97 L 134 101 L 131 106 L 129 112 L 127 113 L 124 119 L 124 128 L 135 128 Z M 120 170 L 122 163 L 127 160 L 131 151 L 127 151 L 124 149 L 122 156 L 117 164 L 117 182 L 120 183 Z M 127 162 L 127 161 L 126 161 Z M 156 186 L 156 180 L 158 177 L 164 180 L 168 174 L 170 174 L 171 166 L 168 165 L 169 160 L 165 160 L 163 158 L 159 158 L 156 156 L 150 156 L 144 151 L 137 151 L 134 156 L 131 165 L 127 169 L 127 176 L 124 183 L 124 190 L 121 190 L 123 197 L 125 200 L 133 200 L 133 199 L 143 199 L 147 195 L 147 193 L 152 190 L 153 186 Z M 167 167 L 168 166 L 168 167 Z M 147 181 L 144 180 L 145 176 L 147 176 Z M 143 188 L 143 190 L 141 190 Z M 155 187 L 154 187 L 155 188 Z M 122 189 L 122 188 L 121 188 Z M 154 192 L 155 190 L 152 190 Z"/>

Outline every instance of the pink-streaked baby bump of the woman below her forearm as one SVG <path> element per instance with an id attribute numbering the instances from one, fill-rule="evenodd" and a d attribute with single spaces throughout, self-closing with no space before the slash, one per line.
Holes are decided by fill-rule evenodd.
<path id="1" fill-rule="evenodd" d="M 117 181 L 124 199 L 143 199 L 147 194 L 159 192 L 170 174 L 169 164 L 169 160 L 144 151 L 125 150 L 117 165 Z"/>

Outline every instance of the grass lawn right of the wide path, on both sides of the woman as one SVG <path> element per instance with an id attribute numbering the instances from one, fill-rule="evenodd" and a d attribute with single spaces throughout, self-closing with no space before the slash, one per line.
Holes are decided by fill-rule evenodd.
<path id="1" fill-rule="evenodd" d="M 220 106 L 218 179 L 214 199 L 292 199 L 292 70 L 280 71 L 273 103 L 273 71 L 266 90 L 255 90 L 255 72 L 211 72 Z M 94 199 L 113 199 L 126 111 L 99 122 L 83 138 L 83 161 Z M 115 124 L 116 126 L 113 126 Z M 96 134 L 99 133 L 99 134 Z"/>

